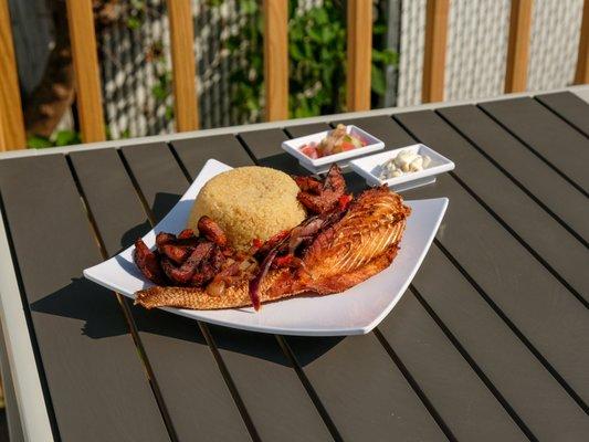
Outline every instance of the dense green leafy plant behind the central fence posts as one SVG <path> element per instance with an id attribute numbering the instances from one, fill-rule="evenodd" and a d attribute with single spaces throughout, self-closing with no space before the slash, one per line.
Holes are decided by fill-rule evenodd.
<path id="1" fill-rule="evenodd" d="M 218 1 L 214 4 L 220 4 Z M 291 117 L 307 117 L 345 110 L 346 17 L 341 0 L 325 0 L 307 10 L 292 0 L 288 20 L 288 107 Z M 257 120 L 264 107 L 263 22 L 259 2 L 240 3 L 245 20 L 225 41 L 225 48 L 241 62 L 231 75 L 232 104 L 245 120 Z M 377 14 L 372 28 L 380 43 L 387 32 L 385 15 Z M 386 69 L 397 65 L 398 54 L 372 49 L 371 91 L 375 104 L 387 91 Z"/>

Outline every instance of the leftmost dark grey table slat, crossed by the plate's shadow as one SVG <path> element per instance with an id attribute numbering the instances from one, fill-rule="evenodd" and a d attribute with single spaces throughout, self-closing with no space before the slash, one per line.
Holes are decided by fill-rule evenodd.
<path id="1" fill-rule="evenodd" d="M 63 441 L 162 441 L 168 432 L 101 261 L 65 157 L 0 161 L 0 191 Z"/>

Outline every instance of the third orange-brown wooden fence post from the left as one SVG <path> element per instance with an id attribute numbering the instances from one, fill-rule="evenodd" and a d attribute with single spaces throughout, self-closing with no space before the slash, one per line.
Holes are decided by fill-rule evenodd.
<path id="1" fill-rule="evenodd" d="M 176 130 L 196 130 L 199 128 L 199 112 L 192 7 L 190 0 L 167 0 L 166 3 L 170 22 Z"/>

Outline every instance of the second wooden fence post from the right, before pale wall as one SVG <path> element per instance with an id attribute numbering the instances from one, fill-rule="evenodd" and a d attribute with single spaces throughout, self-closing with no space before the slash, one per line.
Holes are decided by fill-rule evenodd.
<path id="1" fill-rule="evenodd" d="M 524 92 L 527 86 L 533 2 L 534 0 L 512 0 L 505 93 Z"/>

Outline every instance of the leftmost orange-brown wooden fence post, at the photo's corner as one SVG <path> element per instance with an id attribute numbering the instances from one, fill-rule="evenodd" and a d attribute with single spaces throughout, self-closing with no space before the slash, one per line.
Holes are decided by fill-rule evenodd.
<path id="1" fill-rule="evenodd" d="M 0 0 L 0 151 L 27 146 L 8 0 Z"/>

